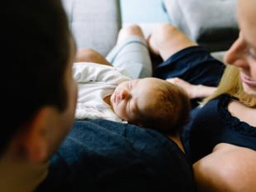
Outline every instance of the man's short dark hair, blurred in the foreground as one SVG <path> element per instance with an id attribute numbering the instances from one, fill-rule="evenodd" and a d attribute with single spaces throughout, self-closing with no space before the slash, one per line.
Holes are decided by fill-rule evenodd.
<path id="1" fill-rule="evenodd" d="M 1 2 L 3 121 L 0 154 L 17 131 L 43 106 L 63 111 L 64 73 L 70 55 L 66 13 L 60 0 Z M 10 118 L 10 121 L 7 119 Z"/>

